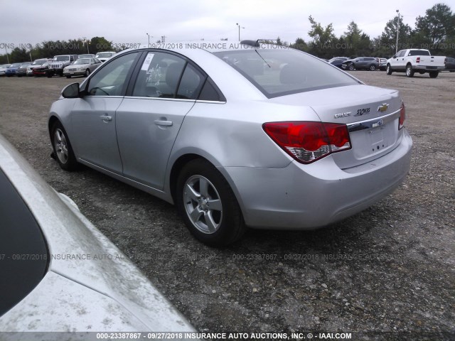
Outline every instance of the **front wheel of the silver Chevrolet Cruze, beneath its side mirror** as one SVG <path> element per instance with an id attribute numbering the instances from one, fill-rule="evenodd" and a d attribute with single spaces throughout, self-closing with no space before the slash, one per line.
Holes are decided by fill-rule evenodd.
<path id="1" fill-rule="evenodd" d="M 56 121 L 53 124 L 50 132 L 55 160 L 65 171 L 75 171 L 77 169 L 76 157 L 73 147 L 71 147 L 70 139 L 68 139 L 68 134 L 66 134 L 65 128 L 63 128 L 60 121 Z"/>

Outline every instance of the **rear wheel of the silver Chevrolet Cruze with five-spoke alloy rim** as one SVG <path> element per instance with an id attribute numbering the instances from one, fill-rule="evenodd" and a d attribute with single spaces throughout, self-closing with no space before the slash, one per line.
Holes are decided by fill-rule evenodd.
<path id="1" fill-rule="evenodd" d="M 177 180 L 176 205 L 191 234 L 211 247 L 235 242 L 245 232 L 242 212 L 228 181 L 208 161 L 196 159 L 183 167 Z"/>

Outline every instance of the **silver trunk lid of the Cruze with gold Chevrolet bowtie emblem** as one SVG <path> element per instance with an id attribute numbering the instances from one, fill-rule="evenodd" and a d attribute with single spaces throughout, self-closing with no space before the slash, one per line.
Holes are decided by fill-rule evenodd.
<path id="1" fill-rule="evenodd" d="M 402 101 L 397 90 L 350 85 L 276 97 L 272 101 L 311 107 L 322 122 L 348 125 L 352 148 L 332 154 L 340 168 L 372 161 L 400 143 Z"/>

